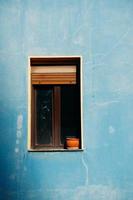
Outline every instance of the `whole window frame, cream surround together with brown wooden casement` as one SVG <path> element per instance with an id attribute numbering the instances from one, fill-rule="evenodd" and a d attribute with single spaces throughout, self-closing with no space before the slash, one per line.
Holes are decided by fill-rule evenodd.
<path id="1" fill-rule="evenodd" d="M 30 57 L 29 58 L 29 65 L 30 65 L 30 69 L 29 69 L 29 74 L 31 74 L 31 66 L 36 65 L 36 64 L 41 64 L 42 62 L 44 62 L 45 60 L 45 64 L 48 65 L 53 65 L 57 62 L 57 64 L 59 65 L 70 65 L 70 64 L 75 64 L 78 62 L 79 64 L 79 60 L 80 60 L 80 71 L 78 71 L 78 73 L 80 73 L 80 100 L 82 101 L 82 94 L 81 94 L 81 88 L 82 88 L 82 79 L 81 79 L 81 57 Z M 35 89 L 33 88 L 33 85 L 31 83 L 32 78 L 31 76 L 29 76 L 29 90 L 31 91 L 30 97 L 29 97 L 29 105 L 28 106 L 28 119 L 29 119 L 29 134 L 28 134 L 28 150 L 29 151 L 47 151 L 47 150 L 64 150 L 63 145 L 60 143 L 60 121 L 61 121 L 61 116 L 60 116 L 60 86 L 55 86 L 53 84 L 53 116 L 54 116 L 54 120 L 52 120 L 53 124 L 52 124 L 52 137 L 53 137 L 53 143 L 50 145 L 38 145 L 35 141 L 35 137 L 37 135 L 37 131 L 33 131 L 36 130 L 35 127 L 35 116 L 32 118 L 32 114 L 35 113 L 35 108 L 34 106 L 32 106 L 32 104 L 34 104 L 35 102 Z M 32 99 L 32 101 L 31 101 Z M 34 100 L 33 100 L 34 99 Z M 80 103 L 81 106 L 82 103 Z M 82 106 L 81 106 L 82 107 Z M 83 126 L 82 126 L 82 108 L 81 109 L 81 138 L 80 138 L 80 150 L 83 149 Z"/>

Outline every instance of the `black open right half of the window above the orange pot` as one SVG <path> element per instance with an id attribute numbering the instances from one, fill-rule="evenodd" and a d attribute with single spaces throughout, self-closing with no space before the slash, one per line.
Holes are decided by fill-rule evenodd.
<path id="1" fill-rule="evenodd" d="M 80 96 L 77 85 L 61 86 L 61 143 L 67 136 L 80 137 Z"/>

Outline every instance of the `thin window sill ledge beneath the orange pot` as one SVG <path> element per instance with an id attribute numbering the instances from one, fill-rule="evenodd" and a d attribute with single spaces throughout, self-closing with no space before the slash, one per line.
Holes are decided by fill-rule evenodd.
<path id="1" fill-rule="evenodd" d="M 84 149 L 28 149 L 29 152 L 81 152 Z"/>

